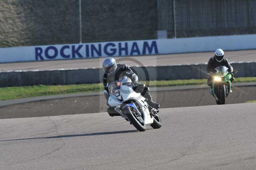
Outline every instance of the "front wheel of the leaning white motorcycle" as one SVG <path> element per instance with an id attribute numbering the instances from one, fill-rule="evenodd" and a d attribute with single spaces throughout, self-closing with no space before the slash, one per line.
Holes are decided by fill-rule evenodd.
<path id="1" fill-rule="evenodd" d="M 140 132 L 146 130 L 146 124 L 141 116 L 137 116 L 133 107 L 126 107 L 124 109 L 124 114 L 128 117 L 132 125 L 138 129 Z"/>

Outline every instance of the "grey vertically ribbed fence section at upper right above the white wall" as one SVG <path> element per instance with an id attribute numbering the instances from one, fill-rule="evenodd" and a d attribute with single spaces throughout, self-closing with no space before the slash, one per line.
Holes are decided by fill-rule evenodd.
<path id="1" fill-rule="evenodd" d="M 169 38 L 255 34 L 255 7 L 255 0 L 158 0 L 158 29 Z"/>

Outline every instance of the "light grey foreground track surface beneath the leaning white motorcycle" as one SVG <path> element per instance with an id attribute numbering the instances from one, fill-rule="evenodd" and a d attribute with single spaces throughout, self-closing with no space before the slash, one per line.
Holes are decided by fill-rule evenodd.
<path id="1" fill-rule="evenodd" d="M 138 132 L 106 113 L 0 120 L 1 169 L 256 168 L 256 104 L 160 110 Z"/>

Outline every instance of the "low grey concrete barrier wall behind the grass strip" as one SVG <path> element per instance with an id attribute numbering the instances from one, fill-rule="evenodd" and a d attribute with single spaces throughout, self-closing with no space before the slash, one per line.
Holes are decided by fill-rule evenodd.
<path id="1" fill-rule="evenodd" d="M 256 62 L 231 63 L 236 77 L 256 76 Z M 132 67 L 140 81 L 205 79 L 207 63 L 195 65 Z M 0 72 L 0 87 L 31 85 L 64 85 L 102 82 L 102 68 L 59 69 L 45 71 Z"/>

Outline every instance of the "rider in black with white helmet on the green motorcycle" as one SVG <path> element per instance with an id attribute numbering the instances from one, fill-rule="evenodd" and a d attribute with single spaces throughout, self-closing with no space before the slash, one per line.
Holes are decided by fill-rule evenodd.
<path id="1" fill-rule="evenodd" d="M 216 72 L 215 68 L 219 67 L 219 66 L 226 66 L 228 68 L 229 73 L 233 72 L 233 67 L 228 62 L 228 59 L 224 58 L 224 51 L 221 49 L 217 49 L 215 51 L 215 56 L 210 58 L 210 60 L 208 62 L 208 66 L 207 66 L 207 72 L 215 73 Z M 230 79 L 230 81 L 232 82 L 234 80 L 234 74 L 231 73 L 231 75 L 232 75 L 232 78 Z M 207 84 L 208 84 L 208 86 L 211 87 L 210 93 L 212 94 L 213 91 L 212 91 L 212 77 L 211 76 L 208 76 Z M 231 89 L 230 89 L 230 93 L 232 93 Z"/>

